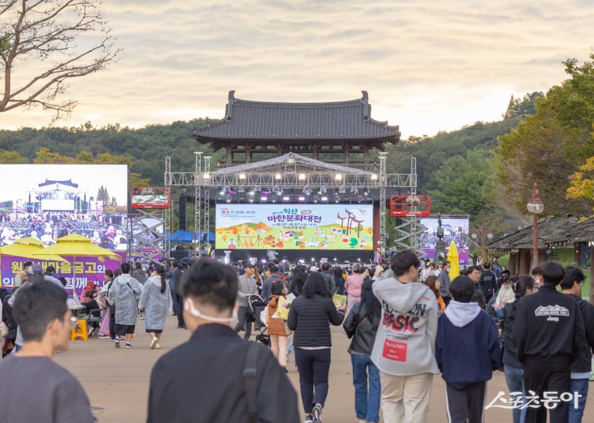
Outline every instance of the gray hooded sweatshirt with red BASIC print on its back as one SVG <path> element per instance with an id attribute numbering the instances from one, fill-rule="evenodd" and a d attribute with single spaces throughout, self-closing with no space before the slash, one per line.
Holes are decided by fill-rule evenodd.
<path id="1" fill-rule="evenodd" d="M 384 373 L 410 376 L 439 373 L 435 360 L 437 301 L 429 287 L 403 284 L 397 278 L 374 282 L 382 305 L 382 320 L 375 335 L 371 361 Z"/>

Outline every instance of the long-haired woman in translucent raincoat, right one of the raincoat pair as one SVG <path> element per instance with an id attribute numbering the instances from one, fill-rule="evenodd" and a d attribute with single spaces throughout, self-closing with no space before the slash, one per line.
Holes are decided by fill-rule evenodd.
<path id="1" fill-rule="evenodd" d="M 138 307 L 144 310 L 144 327 L 151 337 L 150 349 L 161 348 L 161 335 L 167 314 L 173 311 L 173 301 L 167 281 L 165 267 L 157 265 L 153 274 L 143 286 Z"/>

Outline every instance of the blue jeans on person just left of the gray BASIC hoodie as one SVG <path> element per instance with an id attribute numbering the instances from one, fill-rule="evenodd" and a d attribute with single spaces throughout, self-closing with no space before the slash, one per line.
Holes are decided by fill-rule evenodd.
<path id="1" fill-rule="evenodd" d="M 367 354 L 350 354 L 355 386 L 355 414 L 368 422 L 380 421 L 380 371 Z M 368 374 L 369 373 L 369 374 Z M 369 390 L 367 380 L 369 379 Z"/>

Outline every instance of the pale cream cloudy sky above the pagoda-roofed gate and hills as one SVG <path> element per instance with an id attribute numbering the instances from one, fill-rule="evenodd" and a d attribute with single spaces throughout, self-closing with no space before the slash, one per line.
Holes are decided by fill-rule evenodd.
<path id="1" fill-rule="evenodd" d="M 109 69 L 71 83 L 67 122 L 134 127 L 222 117 L 246 100 L 339 101 L 369 93 L 404 137 L 501 118 L 511 94 L 563 81 L 594 45 L 590 0 L 106 0 Z M 21 77 L 34 63 L 21 66 Z M 0 114 L 0 127 L 50 114 Z"/>

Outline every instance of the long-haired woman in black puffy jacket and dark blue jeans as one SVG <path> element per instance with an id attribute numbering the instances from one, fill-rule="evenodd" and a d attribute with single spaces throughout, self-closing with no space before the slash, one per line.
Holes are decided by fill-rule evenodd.
<path id="1" fill-rule="evenodd" d="M 322 421 L 330 372 L 330 325 L 341 325 L 345 320 L 345 310 L 344 303 L 336 310 L 328 285 L 320 273 L 311 273 L 307 277 L 302 295 L 295 298 L 289 308 L 287 326 L 295 331 L 295 361 L 307 423 Z"/>

